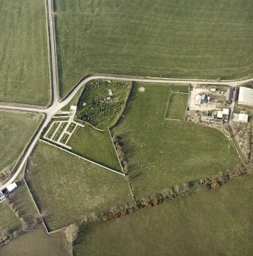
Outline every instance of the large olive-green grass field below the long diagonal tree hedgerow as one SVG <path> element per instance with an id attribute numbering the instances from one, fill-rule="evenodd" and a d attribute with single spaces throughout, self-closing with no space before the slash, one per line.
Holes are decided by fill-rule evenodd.
<path id="1" fill-rule="evenodd" d="M 81 229 L 75 255 L 251 255 L 253 177 Z"/>

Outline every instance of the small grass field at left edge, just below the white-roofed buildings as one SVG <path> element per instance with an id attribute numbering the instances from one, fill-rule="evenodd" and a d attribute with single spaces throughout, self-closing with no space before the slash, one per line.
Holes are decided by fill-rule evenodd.
<path id="1" fill-rule="evenodd" d="M 0 215 L 0 238 L 21 230 L 21 222 L 6 200 L 0 203 Z"/>

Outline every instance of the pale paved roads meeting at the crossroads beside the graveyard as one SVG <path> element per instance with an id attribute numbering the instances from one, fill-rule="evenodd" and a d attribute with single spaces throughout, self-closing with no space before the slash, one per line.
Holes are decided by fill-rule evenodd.
<path id="1" fill-rule="evenodd" d="M 57 112 L 60 111 L 65 105 L 67 105 L 72 98 L 75 96 L 75 94 L 78 92 L 78 90 L 85 85 L 85 83 L 88 83 L 88 81 L 91 81 L 92 79 L 110 79 L 110 80 L 120 80 L 120 81 L 133 81 L 133 82 L 142 82 L 142 83 L 174 83 L 174 84 L 181 84 L 181 83 L 194 83 L 194 84 L 209 84 L 209 85 L 226 85 L 226 86 L 239 86 L 242 83 L 247 83 L 250 81 L 253 81 L 253 78 L 251 79 L 244 79 L 244 80 L 232 80 L 232 81 L 210 81 L 210 80 L 194 80 L 194 79 L 165 79 L 165 78 L 146 78 L 146 79 L 137 79 L 137 78 L 126 78 L 121 76 L 90 76 L 84 80 L 82 80 L 81 83 L 79 83 L 77 86 L 75 86 L 75 89 L 70 93 L 70 95 L 63 100 L 62 102 L 59 101 L 58 96 L 58 83 L 57 83 L 57 65 L 56 65 L 56 42 L 55 42 L 55 33 L 54 33 L 54 22 L 53 22 L 53 13 L 52 13 L 52 1 L 47 0 L 47 15 L 48 15 L 48 21 L 49 21 L 49 38 L 50 38 L 50 69 L 52 73 L 52 105 L 50 105 L 47 109 L 36 109 L 36 108 L 25 108 L 25 107 L 18 107 L 18 106 L 11 106 L 11 105 L 0 105 L 0 109 L 8 109 L 13 111 L 25 111 L 25 112 L 39 112 L 44 113 L 46 115 L 46 119 L 43 123 L 43 125 L 37 130 L 37 134 L 34 137 L 33 141 L 30 142 L 29 147 L 27 148 L 27 151 L 22 156 L 21 164 L 16 167 L 16 172 L 11 177 L 10 180 L 8 180 L 7 183 L 5 183 L 2 187 L 0 187 L 0 190 L 3 190 L 6 186 L 8 186 L 10 183 L 13 183 L 14 180 L 18 177 L 18 174 L 21 172 L 24 164 L 27 161 L 27 158 L 30 156 L 32 151 L 34 150 L 34 147 L 37 144 L 37 141 L 40 139 L 40 136 L 43 132 L 43 130 L 46 128 L 46 126 L 50 123 L 51 118 L 53 115 L 55 115 Z"/>

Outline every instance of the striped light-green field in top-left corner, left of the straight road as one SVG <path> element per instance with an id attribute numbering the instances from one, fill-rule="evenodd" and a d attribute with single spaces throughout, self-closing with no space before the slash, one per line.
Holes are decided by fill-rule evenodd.
<path id="1" fill-rule="evenodd" d="M 0 1 L 0 102 L 47 105 L 50 79 L 41 0 Z"/>

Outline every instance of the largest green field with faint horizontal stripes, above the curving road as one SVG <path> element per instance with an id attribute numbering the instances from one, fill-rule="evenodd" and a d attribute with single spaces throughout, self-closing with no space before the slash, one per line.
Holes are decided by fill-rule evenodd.
<path id="1" fill-rule="evenodd" d="M 252 8 L 251 0 L 56 0 L 61 94 L 95 72 L 251 76 Z"/>

